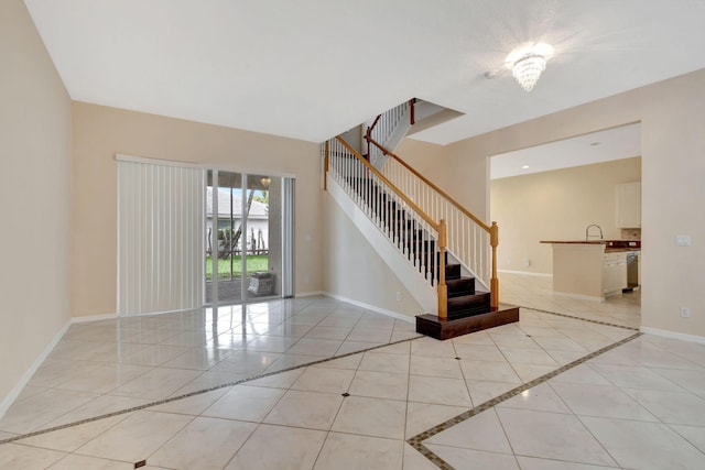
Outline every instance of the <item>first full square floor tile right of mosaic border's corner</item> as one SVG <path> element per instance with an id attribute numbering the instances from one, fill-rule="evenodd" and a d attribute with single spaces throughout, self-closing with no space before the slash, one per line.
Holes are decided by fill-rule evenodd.
<path id="1" fill-rule="evenodd" d="M 497 408 L 513 451 L 521 456 L 614 466 L 615 461 L 573 415 Z M 579 445 L 576 445 L 579 442 Z"/>

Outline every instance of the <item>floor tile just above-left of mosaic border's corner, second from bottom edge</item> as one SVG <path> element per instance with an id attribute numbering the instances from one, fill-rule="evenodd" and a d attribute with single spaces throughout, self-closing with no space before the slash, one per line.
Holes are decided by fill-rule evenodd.
<path id="1" fill-rule="evenodd" d="M 394 400 L 348 396 L 332 430 L 364 436 L 404 438 L 406 403 Z"/>

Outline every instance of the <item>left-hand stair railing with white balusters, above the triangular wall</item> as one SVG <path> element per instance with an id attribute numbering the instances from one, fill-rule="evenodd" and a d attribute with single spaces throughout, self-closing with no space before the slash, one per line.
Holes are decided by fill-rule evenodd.
<path id="1" fill-rule="evenodd" d="M 445 263 L 441 262 L 447 247 L 445 220 L 425 214 L 344 139 L 330 139 L 322 150 L 324 188 L 330 177 L 345 190 L 436 291 L 438 318 L 447 318 Z"/>

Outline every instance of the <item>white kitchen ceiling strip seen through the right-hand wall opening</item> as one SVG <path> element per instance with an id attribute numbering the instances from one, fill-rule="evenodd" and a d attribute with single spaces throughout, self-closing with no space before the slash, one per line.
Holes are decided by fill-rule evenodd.
<path id="1" fill-rule="evenodd" d="M 490 179 L 522 176 L 611 160 L 641 156 L 641 124 L 592 132 L 499 155 L 490 160 Z"/>

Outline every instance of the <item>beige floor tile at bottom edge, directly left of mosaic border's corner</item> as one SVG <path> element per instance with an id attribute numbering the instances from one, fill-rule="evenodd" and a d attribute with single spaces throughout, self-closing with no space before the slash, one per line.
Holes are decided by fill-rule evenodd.
<path id="1" fill-rule="evenodd" d="M 330 433 L 321 449 L 314 469 L 400 469 L 403 446 L 403 440 Z"/>

